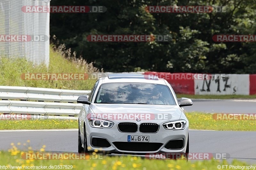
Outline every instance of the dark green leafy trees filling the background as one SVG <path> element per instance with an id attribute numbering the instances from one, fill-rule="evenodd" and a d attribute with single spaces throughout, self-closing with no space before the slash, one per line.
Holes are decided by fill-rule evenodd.
<path id="1" fill-rule="evenodd" d="M 215 34 L 255 34 L 254 0 L 54 0 L 104 5 L 105 13 L 51 14 L 51 35 L 105 71 L 256 73 L 255 42 L 214 42 Z M 215 5 L 223 13 L 148 13 L 146 5 Z M 170 42 L 88 42 L 90 34 L 169 35 Z"/>

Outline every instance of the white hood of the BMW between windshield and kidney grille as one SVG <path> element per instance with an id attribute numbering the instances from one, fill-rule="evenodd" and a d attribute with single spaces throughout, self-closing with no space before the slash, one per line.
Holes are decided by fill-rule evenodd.
<path id="1" fill-rule="evenodd" d="M 173 105 L 91 104 L 90 107 L 95 117 L 115 122 L 134 122 L 137 118 L 141 122 L 176 121 L 182 113 L 179 106 Z"/>

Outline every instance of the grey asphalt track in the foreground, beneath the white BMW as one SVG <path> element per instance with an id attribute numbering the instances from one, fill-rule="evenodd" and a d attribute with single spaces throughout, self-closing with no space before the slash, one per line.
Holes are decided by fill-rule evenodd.
<path id="1" fill-rule="evenodd" d="M 46 151 L 77 152 L 77 130 L 20 130 L 0 131 L 0 150 L 11 148 L 11 143 L 20 142 L 20 149 L 28 146 L 23 143 L 30 140 L 33 150 L 39 150 L 46 145 Z M 248 163 L 256 163 L 256 132 L 246 131 L 210 131 L 190 130 L 191 153 L 228 153 L 230 159 L 238 159 Z"/>

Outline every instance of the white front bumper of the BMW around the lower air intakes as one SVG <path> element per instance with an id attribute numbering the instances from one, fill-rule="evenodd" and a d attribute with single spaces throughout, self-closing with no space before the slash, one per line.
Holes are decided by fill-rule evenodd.
<path id="1" fill-rule="evenodd" d="M 86 135 L 88 151 L 99 150 L 106 153 L 127 153 L 127 154 L 144 154 L 144 153 L 185 153 L 188 139 L 188 125 L 183 130 L 166 130 L 163 124 L 156 133 L 135 133 L 120 132 L 117 125 L 112 128 L 93 128 L 86 122 Z M 128 142 L 128 135 L 149 136 L 148 142 Z M 109 147 L 95 147 L 92 144 L 93 138 L 107 140 Z M 182 148 L 167 149 L 165 145 L 171 140 L 182 140 Z"/>

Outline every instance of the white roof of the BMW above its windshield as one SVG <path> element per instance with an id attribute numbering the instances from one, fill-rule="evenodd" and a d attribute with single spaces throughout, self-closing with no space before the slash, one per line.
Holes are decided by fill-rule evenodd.
<path id="1" fill-rule="evenodd" d="M 144 74 L 110 74 L 99 79 L 101 83 L 153 83 L 166 85 L 164 79 Z"/>

